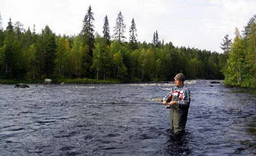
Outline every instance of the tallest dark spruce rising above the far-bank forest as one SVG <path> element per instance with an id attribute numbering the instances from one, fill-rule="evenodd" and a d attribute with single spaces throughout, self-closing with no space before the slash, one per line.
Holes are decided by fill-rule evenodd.
<path id="1" fill-rule="evenodd" d="M 89 47 L 89 55 L 92 56 L 93 48 L 94 48 L 94 26 L 93 26 L 93 12 L 91 12 L 91 5 L 87 10 L 85 18 L 83 20 L 83 30 L 82 34 L 84 37 L 84 44 Z"/>

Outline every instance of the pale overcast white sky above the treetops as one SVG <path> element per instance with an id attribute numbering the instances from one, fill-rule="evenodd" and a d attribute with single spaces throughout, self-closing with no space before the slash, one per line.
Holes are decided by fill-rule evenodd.
<path id="1" fill-rule="evenodd" d="M 27 30 L 41 33 L 46 25 L 56 35 L 77 35 L 91 5 L 95 31 L 102 36 L 107 15 L 110 34 L 117 14 L 122 12 L 126 24 L 126 41 L 134 18 L 139 42 L 152 42 L 157 30 L 160 41 L 174 46 L 223 51 L 224 36 L 235 37 L 235 27 L 244 30 L 256 15 L 256 0 L 1 0 L 0 15 L 5 30 L 11 17 Z"/>

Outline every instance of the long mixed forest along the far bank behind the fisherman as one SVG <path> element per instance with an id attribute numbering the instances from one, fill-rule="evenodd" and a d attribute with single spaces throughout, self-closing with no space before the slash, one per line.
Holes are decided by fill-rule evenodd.
<path id="1" fill-rule="evenodd" d="M 117 14 L 113 35 L 107 15 L 102 35 L 94 31 L 94 13 L 86 11 L 83 27 L 77 36 L 56 36 L 45 26 L 36 33 L 9 19 L 4 30 L 0 16 L 0 78 L 96 78 L 123 82 L 169 81 L 176 73 L 188 79 L 223 79 L 231 52 L 211 52 L 190 47 L 175 47 L 160 41 L 154 31 L 152 43 L 138 42 L 134 18 L 129 26 L 121 11 Z M 224 46 L 223 46 L 224 47 Z M 229 57 L 230 58 L 230 57 Z M 225 72 L 227 72 L 225 70 Z"/>

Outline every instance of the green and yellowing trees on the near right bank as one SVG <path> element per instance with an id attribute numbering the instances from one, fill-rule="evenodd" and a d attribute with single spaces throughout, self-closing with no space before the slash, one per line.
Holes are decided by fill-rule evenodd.
<path id="1" fill-rule="evenodd" d="M 224 83 L 230 86 L 256 88 L 256 15 L 254 15 L 240 31 L 235 28 L 233 43 L 224 40 L 228 54 L 227 63 L 223 68 Z"/>

